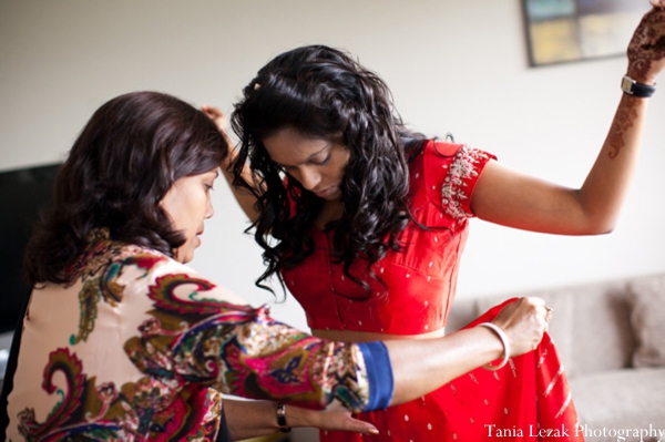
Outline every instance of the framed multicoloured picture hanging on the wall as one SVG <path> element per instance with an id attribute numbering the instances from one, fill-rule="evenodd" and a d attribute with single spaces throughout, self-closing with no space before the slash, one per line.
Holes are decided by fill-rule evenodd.
<path id="1" fill-rule="evenodd" d="M 532 66 L 625 54 L 645 0 L 522 0 Z"/>

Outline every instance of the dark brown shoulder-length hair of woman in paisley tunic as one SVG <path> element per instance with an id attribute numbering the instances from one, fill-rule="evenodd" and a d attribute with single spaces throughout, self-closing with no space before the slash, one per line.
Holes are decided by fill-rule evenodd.
<path id="1" fill-rule="evenodd" d="M 66 269 L 98 228 L 173 256 L 185 238 L 160 202 L 176 179 L 214 169 L 227 151 L 215 123 L 174 96 L 134 92 L 106 102 L 58 172 L 53 206 L 27 247 L 25 279 L 71 282 Z"/>

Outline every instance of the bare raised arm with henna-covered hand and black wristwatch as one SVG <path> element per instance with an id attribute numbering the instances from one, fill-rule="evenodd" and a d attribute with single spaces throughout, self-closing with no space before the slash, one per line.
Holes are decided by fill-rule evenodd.
<path id="1" fill-rule="evenodd" d="M 626 75 L 653 85 L 665 68 L 665 0 L 652 0 L 628 45 Z M 618 83 L 617 79 L 617 83 Z M 580 188 L 566 188 L 490 162 L 471 199 L 485 220 L 534 232 L 595 235 L 613 229 L 637 162 L 648 97 L 622 92 L 610 132 Z"/>

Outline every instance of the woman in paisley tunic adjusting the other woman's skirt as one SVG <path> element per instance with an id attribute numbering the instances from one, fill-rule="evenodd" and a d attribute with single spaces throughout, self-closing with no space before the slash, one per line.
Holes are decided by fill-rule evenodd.
<path id="1" fill-rule="evenodd" d="M 93 114 L 25 253 L 33 291 L 0 402 L 7 440 L 222 441 L 288 425 L 371 433 L 350 411 L 412 400 L 540 342 L 540 299 L 420 345 L 314 338 L 247 306 L 185 265 L 213 216 L 227 148 L 203 112 L 170 95 L 130 93 Z"/>

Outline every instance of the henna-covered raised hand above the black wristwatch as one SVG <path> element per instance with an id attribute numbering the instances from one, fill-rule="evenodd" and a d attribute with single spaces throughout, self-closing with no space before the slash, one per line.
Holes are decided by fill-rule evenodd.
<path id="1" fill-rule="evenodd" d="M 665 0 L 651 0 L 647 12 L 628 44 L 628 75 L 641 83 L 653 84 L 665 68 Z"/>

